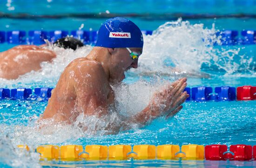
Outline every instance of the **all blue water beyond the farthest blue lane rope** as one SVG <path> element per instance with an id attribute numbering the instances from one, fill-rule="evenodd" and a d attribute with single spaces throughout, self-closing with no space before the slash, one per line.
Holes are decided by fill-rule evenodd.
<path id="1" fill-rule="evenodd" d="M 143 7 L 141 5 L 143 4 Z M 57 10 L 56 10 L 57 9 Z M 55 30 L 78 29 L 81 24 L 84 24 L 84 29 L 92 28 L 97 30 L 100 24 L 106 20 L 101 18 L 101 15 L 94 17 L 100 13 L 110 14 L 146 14 L 144 17 L 126 16 L 137 24 L 141 29 L 155 30 L 157 27 L 169 20 L 176 20 L 178 17 L 168 18 L 165 15 L 182 13 L 189 14 L 255 14 L 256 0 L 7 0 L 0 1 L 0 11 L 11 15 L 15 14 L 31 14 L 38 15 L 53 15 L 57 14 L 72 14 L 86 13 L 93 14 L 90 17 L 71 17 L 65 16 L 62 18 L 42 18 L 42 19 L 13 19 L 3 16 L 0 18 L 0 30 Z M 163 14 L 163 16 L 159 16 Z M 186 19 L 192 24 L 203 23 L 205 27 L 212 27 L 216 24 L 217 29 L 256 29 L 255 17 L 242 18 L 202 18 L 202 19 Z M 56 24 L 56 21 L 58 24 Z M 68 24 L 67 23 L 72 23 Z"/>

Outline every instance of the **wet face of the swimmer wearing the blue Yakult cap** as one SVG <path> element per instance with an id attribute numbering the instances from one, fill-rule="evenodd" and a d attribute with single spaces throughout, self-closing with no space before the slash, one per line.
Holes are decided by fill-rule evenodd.
<path id="1" fill-rule="evenodd" d="M 130 48 L 132 52 L 142 54 L 142 48 Z M 121 82 L 125 75 L 124 73 L 131 68 L 138 67 L 138 59 L 132 60 L 127 48 L 111 48 L 111 66 L 110 79 L 112 81 Z"/>

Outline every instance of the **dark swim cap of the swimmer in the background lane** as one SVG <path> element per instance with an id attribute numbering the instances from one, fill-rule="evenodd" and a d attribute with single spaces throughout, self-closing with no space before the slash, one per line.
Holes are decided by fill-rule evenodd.
<path id="1" fill-rule="evenodd" d="M 83 47 L 84 44 L 74 37 L 63 37 L 61 39 L 58 39 L 56 42 L 54 42 L 54 45 L 62 48 L 71 48 L 73 50 L 76 50 L 77 47 Z"/>

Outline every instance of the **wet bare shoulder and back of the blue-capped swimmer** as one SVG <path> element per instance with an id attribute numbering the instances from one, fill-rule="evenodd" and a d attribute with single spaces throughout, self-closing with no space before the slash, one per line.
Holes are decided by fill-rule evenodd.
<path id="1" fill-rule="evenodd" d="M 108 98 L 109 85 L 104 73 L 101 64 L 95 60 L 88 58 L 73 60 L 64 69 L 52 91 L 42 119 L 54 117 L 55 121 L 72 123 L 81 113 L 92 115 L 88 108 L 97 106 L 97 103 L 102 103 L 98 101 L 105 101 Z M 97 94 L 95 91 L 97 88 L 100 88 L 103 96 L 95 101 L 91 97 Z"/>

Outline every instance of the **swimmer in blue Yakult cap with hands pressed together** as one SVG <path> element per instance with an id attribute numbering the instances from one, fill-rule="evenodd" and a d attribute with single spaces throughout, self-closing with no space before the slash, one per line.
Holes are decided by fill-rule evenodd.
<path id="1" fill-rule="evenodd" d="M 99 29 L 93 50 L 86 58 L 73 60 L 61 74 L 40 120 L 53 119 L 72 124 L 80 114 L 107 115 L 108 107 L 115 104 L 115 94 L 110 85 L 119 84 L 125 78 L 125 71 L 138 67 L 142 48 L 141 30 L 132 21 L 121 17 L 106 20 Z M 189 97 L 183 92 L 186 81 L 182 78 L 162 86 L 145 109 L 124 123 L 144 126 L 157 117 L 178 113 Z M 126 126 L 108 129 L 117 132 L 121 127 Z"/>

